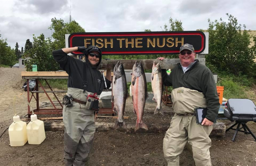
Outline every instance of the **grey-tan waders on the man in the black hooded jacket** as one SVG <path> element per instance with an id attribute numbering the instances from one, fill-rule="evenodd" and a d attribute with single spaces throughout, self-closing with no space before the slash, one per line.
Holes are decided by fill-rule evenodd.
<path id="1" fill-rule="evenodd" d="M 86 102 L 87 93 L 83 93 L 82 89 L 68 88 L 68 94 Z M 88 155 L 95 132 L 94 110 L 85 109 L 84 104 L 73 102 L 72 106 L 63 107 L 63 122 L 66 166 L 89 165 Z"/>

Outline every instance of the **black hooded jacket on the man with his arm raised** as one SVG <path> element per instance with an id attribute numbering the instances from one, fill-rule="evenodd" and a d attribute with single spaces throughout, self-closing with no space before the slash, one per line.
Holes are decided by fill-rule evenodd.
<path id="1" fill-rule="evenodd" d="M 86 62 L 68 56 L 62 49 L 52 52 L 54 60 L 60 64 L 60 68 L 68 73 L 68 87 L 83 89 L 84 81 L 87 81 L 87 91 L 91 93 L 101 94 L 105 88 L 102 74 L 98 70 L 100 61 L 97 66 L 92 66 L 85 57 Z M 85 70 L 84 64 L 85 63 Z M 84 72 L 86 72 L 86 80 L 84 80 Z M 111 86 L 111 81 L 106 79 L 107 88 Z"/>

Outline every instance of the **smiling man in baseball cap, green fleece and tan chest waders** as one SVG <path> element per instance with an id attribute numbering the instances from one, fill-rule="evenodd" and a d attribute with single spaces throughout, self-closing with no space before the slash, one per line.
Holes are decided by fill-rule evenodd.
<path id="1" fill-rule="evenodd" d="M 175 113 L 163 141 L 164 158 L 168 166 L 179 166 L 179 155 L 187 142 L 192 147 L 196 166 L 212 165 L 209 135 L 220 103 L 212 72 L 195 57 L 193 45 L 184 44 L 180 47 L 180 63 L 170 75 L 162 70 L 164 85 L 173 87 L 171 97 Z M 196 124 L 196 108 L 207 108 L 201 124 Z"/>

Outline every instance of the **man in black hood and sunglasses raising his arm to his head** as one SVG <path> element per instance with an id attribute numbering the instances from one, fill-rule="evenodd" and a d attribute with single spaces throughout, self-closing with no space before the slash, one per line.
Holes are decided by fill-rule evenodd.
<path id="1" fill-rule="evenodd" d="M 73 51 L 83 52 L 85 61 L 68 56 Z M 63 107 L 64 122 L 64 160 L 66 166 L 89 165 L 88 155 L 92 148 L 95 132 L 94 111 L 98 109 L 97 98 L 88 109 L 88 97 L 100 95 L 106 88 L 104 79 L 98 70 L 101 62 L 101 50 L 96 46 L 72 47 L 58 49 L 52 52 L 60 68 L 68 73 L 68 94 L 73 98 L 72 106 Z M 111 72 L 107 70 L 107 88 L 111 85 Z M 90 103 L 90 102 L 89 102 Z M 87 103 L 88 104 L 88 103 Z"/>

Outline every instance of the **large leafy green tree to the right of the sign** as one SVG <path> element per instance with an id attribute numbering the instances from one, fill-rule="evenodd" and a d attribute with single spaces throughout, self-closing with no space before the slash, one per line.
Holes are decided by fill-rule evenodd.
<path id="1" fill-rule="evenodd" d="M 223 71 L 232 72 L 235 75 L 250 74 L 250 66 L 253 65 L 254 55 L 249 49 L 250 35 L 245 30 L 241 33 L 241 24 L 238 25 L 236 17 L 226 14 L 228 22 L 220 18 L 209 23 L 209 54 L 206 62 Z"/>

